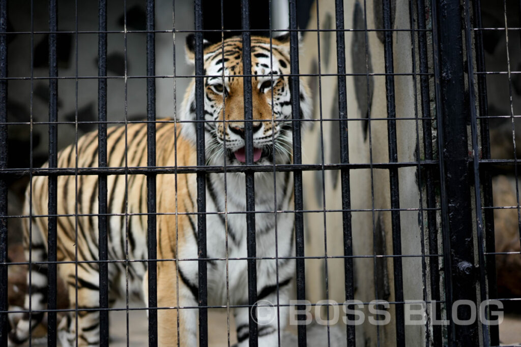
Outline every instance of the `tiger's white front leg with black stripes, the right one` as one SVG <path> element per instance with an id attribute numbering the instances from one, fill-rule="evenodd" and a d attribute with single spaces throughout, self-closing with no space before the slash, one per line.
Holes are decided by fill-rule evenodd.
<path id="1" fill-rule="evenodd" d="M 238 347 L 247 347 L 249 345 L 250 310 L 250 307 L 235 309 Z M 279 291 L 278 302 L 277 292 L 257 300 L 256 314 L 259 347 L 278 346 L 279 333 L 284 330 L 288 322 L 289 295 L 286 290 Z"/>

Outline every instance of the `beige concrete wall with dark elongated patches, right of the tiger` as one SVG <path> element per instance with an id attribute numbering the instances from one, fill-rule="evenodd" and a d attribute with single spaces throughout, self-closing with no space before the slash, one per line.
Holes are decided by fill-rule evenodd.
<path id="1" fill-rule="evenodd" d="M 344 1 L 345 29 L 382 29 L 381 2 Z M 336 28 L 334 1 L 320 1 L 319 29 Z M 410 29 L 409 2 L 393 2 L 393 28 Z M 414 16 L 416 11 L 414 9 Z M 365 22 L 366 20 L 366 22 Z M 312 9 L 308 29 L 317 29 L 317 10 Z M 367 41 L 366 41 L 367 38 Z M 318 39 L 320 58 L 318 57 Z M 412 37 L 410 31 L 393 33 L 393 57 L 395 73 L 412 73 Z M 415 40 L 417 40 L 415 38 Z M 415 43 L 417 46 L 417 41 Z M 384 73 L 383 34 L 369 31 L 345 32 L 346 72 Z M 306 134 L 303 158 L 310 163 L 340 162 L 336 34 L 334 31 L 307 32 L 301 50 L 301 72 L 320 73 L 321 78 L 308 77 L 315 100 L 316 120 Z M 416 52 L 417 55 L 417 52 Z M 367 60 L 366 60 L 367 57 Z M 416 58 L 417 59 L 417 58 Z M 319 64 L 320 61 L 320 64 Z M 418 64 L 416 62 L 416 69 Z M 369 80 L 369 86 L 367 81 Z M 386 163 L 389 161 L 387 137 L 387 108 L 384 76 L 347 76 L 347 107 L 349 132 L 349 158 L 351 163 Z M 421 123 L 414 118 L 420 110 L 415 106 L 415 89 L 412 75 L 395 76 L 396 131 L 398 160 L 417 160 L 417 142 L 421 144 Z M 419 87 L 418 87 L 419 93 Z M 419 98 L 419 94 L 417 94 Z M 418 105 L 420 99 L 418 99 Z M 419 106 L 418 106 L 419 107 Z M 370 118 L 370 124 L 366 121 Z M 400 119 L 400 118 L 407 118 Z M 419 128 L 419 132 L 417 132 Z M 419 134 L 419 138 L 417 136 Z M 322 152 L 323 147 L 323 152 Z M 423 146 L 419 146 L 423 148 Z M 421 157 L 421 150 L 419 152 Z M 399 170 L 400 207 L 416 209 L 400 212 L 402 254 L 419 255 L 422 252 L 419 218 L 419 189 L 416 167 Z M 393 254 L 390 211 L 389 171 L 383 169 L 357 169 L 351 171 L 351 208 L 353 253 L 355 259 L 355 299 L 369 302 L 374 299 L 394 301 L 394 270 L 392 258 L 376 258 L 375 255 Z M 322 185 L 325 191 L 322 191 Z M 342 256 L 343 226 L 340 172 L 305 173 L 306 255 Z M 371 199 L 371 195 L 374 200 Z M 325 197 L 325 198 L 324 198 Z M 425 207 L 425 202 L 423 204 Z M 325 242 L 324 240 L 327 239 Z M 405 300 L 425 300 L 421 257 L 403 258 L 403 290 Z M 327 265 L 327 273 L 325 271 Z M 325 278 L 328 278 L 329 299 L 345 300 L 343 259 L 328 258 L 308 260 L 306 263 L 306 290 L 310 300 L 326 299 Z M 318 278 L 317 278 L 318 277 Z M 311 280 L 317 278 L 317 280 Z M 425 279 L 428 282 L 428 278 Z M 376 284 L 376 285 L 375 285 Z M 359 327 L 357 345 L 395 345 L 394 307 L 391 305 L 391 323 L 377 328 L 367 323 Z M 425 344 L 424 326 L 406 326 L 407 345 Z"/>

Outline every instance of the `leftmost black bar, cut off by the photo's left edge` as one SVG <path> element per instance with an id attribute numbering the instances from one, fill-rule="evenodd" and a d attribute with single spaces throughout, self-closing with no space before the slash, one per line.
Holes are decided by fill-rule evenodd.
<path id="1" fill-rule="evenodd" d="M 0 0 L 0 122 L 7 123 L 7 0 Z M 0 125 L 0 171 L 7 168 L 7 124 Z M 7 346 L 7 177 L 0 177 L 0 344 Z"/>

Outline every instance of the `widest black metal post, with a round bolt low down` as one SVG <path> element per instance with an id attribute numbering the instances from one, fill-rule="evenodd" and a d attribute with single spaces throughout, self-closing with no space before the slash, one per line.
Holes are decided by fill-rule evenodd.
<path id="1" fill-rule="evenodd" d="M 476 302 L 476 269 L 467 145 L 468 107 L 465 102 L 460 1 L 432 3 L 433 52 L 440 153 L 440 193 L 448 313 L 457 300 Z M 458 318 L 470 317 L 460 306 Z M 455 324 L 448 314 L 448 344 L 477 346 L 477 323 Z"/>

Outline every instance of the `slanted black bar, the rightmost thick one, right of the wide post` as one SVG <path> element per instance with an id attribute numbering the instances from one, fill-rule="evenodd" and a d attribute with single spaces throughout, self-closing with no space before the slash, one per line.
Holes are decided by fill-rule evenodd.
<path id="1" fill-rule="evenodd" d="M 481 0 L 474 0 L 474 27 L 482 28 L 481 23 Z M 474 44 L 476 47 L 476 69 L 479 72 L 486 71 L 485 66 L 485 49 L 483 47 L 483 32 L 476 30 L 474 32 Z M 487 100 L 487 78 L 484 74 L 477 74 L 478 85 L 478 107 L 480 118 L 480 136 L 481 136 L 481 156 L 483 159 L 490 159 L 490 137 L 489 137 L 489 120 L 488 120 L 488 100 Z M 492 175 L 489 170 L 481 170 L 480 182 L 483 191 L 483 206 L 493 207 L 492 199 Z M 483 212 L 485 217 L 485 250 L 486 253 L 495 251 L 495 235 L 494 235 L 494 210 L 485 208 Z M 498 283 L 495 273 L 495 255 L 491 254 L 486 258 L 487 267 L 487 290 L 488 299 L 498 297 Z M 484 284 L 481 284 L 484 285 Z M 491 325 L 489 327 L 490 344 L 499 345 L 499 326 Z"/>

